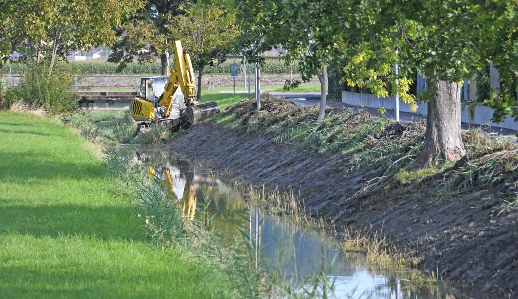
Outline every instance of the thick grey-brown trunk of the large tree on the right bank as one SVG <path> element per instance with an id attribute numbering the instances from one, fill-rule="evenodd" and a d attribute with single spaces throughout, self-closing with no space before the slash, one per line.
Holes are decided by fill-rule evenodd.
<path id="1" fill-rule="evenodd" d="M 437 96 L 428 102 L 425 142 L 412 168 L 434 165 L 436 158 L 457 161 L 465 154 L 461 135 L 461 87 L 435 80 L 430 87 Z"/>

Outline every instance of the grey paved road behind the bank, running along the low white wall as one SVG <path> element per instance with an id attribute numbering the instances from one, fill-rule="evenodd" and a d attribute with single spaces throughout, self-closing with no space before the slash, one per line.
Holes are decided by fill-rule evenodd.
<path id="1" fill-rule="evenodd" d="M 232 93 L 232 91 L 220 91 L 220 93 Z M 271 93 L 274 96 L 278 97 L 284 97 L 286 99 L 289 99 L 293 103 L 299 106 L 310 106 L 310 105 L 316 105 L 320 101 L 320 92 L 305 92 L 305 93 L 299 93 L 299 92 L 292 92 L 292 93 L 284 93 L 284 92 L 272 92 Z M 359 106 L 352 106 L 348 104 L 344 104 L 341 102 L 327 102 L 327 106 L 333 107 L 333 108 L 341 108 L 341 109 L 350 109 L 353 112 L 357 112 L 361 109 L 364 111 L 369 112 L 373 116 L 381 116 L 381 113 L 379 113 L 376 108 L 370 108 L 370 107 L 359 107 Z M 384 116 L 389 119 L 396 119 L 395 112 L 392 109 L 387 109 L 384 113 Z M 421 121 L 423 119 L 426 119 L 426 116 L 418 115 L 416 113 L 411 112 L 399 112 L 399 119 L 402 121 Z M 473 125 L 470 123 L 462 123 L 463 129 L 470 129 L 472 127 L 478 127 L 479 125 Z M 503 135 L 506 136 L 514 141 L 516 141 L 516 131 L 505 129 L 501 127 L 484 127 L 483 130 L 487 133 L 496 134 L 496 135 Z"/>

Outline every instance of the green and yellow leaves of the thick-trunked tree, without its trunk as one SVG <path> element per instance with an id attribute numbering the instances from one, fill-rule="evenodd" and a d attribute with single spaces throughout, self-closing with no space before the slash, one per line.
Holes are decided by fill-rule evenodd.
<path id="1" fill-rule="evenodd" d="M 518 51 L 512 41 L 516 40 L 515 1 L 351 0 L 339 7 L 330 11 L 330 18 L 341 27 L 338 45 L 345 50 L 348 84 L 365 85 L 380 96 L 394 94 L 392 66 L 397 59 L 401 99 L 413 103 L 408 88 L 415 70 L 428 80 L 462 82 L 472 80 L 493 61 L 508 82 L 498 103 L 509 103 L 506 92 L 511 93 L 516 80 L 511 69 L 516 69 Z M 433 96 L 429 90 L 421 99 Z"/>

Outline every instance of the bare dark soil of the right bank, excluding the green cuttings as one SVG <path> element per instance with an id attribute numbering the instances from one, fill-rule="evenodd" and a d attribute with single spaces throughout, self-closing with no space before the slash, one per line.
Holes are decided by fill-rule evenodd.
<path id="1" fill-rule="evenodd" d="M 269 109 L 268 102 L 264 106 Z M 290 104 L 286 107 L 275 108 L 282 113 L 277 111 L 278 119 L 270 118 L 268 125 L 310 109 Z M 242 123 L 250 124 L 253 107 L 232 109 Z M 372 147 L 378 139 L 397 143 L 407 135 L 421 138 L 423 125 L 389 123 L 380 133 L 369 136 L 366 147 Z M 355 195 L 373 178 L 382 176 L 386 168 L 376 163 L 352 167 L 350 153 L 326 155 L 316 149 L 296 149 L 276 143 L 278 133 L 265 132 L 237 132 L 209 121 L 183 131 L 170 142 L 170 148 L 230 170 L 256 186 L 292 188 L 312 215 L 326 216 L 355 229 L 378 231 L 421 258 L 420 268 L 438 270 L 443 278 L 460 281 L 481 297 L 516 296 L 518 210 L 502 208 L 506 204 L 503 201 L 509 201 L 518 191 L 516 169 L 502 172 L 503 177 L 494 186 L 469 185 L 466 189 L 465 176 L 452 175 L 463 173 L 468 164 L 461 161 L 407 185 L 388 177 L 376 188 Z M 443 179 L 451 177 L 455 179 Z M 445 189 L 448 192 L 440 193 L 444 181 L 450 186 Z"/>

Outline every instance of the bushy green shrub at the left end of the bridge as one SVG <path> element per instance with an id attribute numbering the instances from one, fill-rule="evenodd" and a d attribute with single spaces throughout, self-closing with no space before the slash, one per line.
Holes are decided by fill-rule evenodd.
<path id="1" fill-rule="evenodd" d="M 48 66 L 28 65 L 22 82 L 6 95 L 6 108 L 21 101 L 31 107 L 42 107 L 51 114 L 77 109 L 72 92 L 74 77 L 64 67 L 56 67 L 48 76 Z"/>

